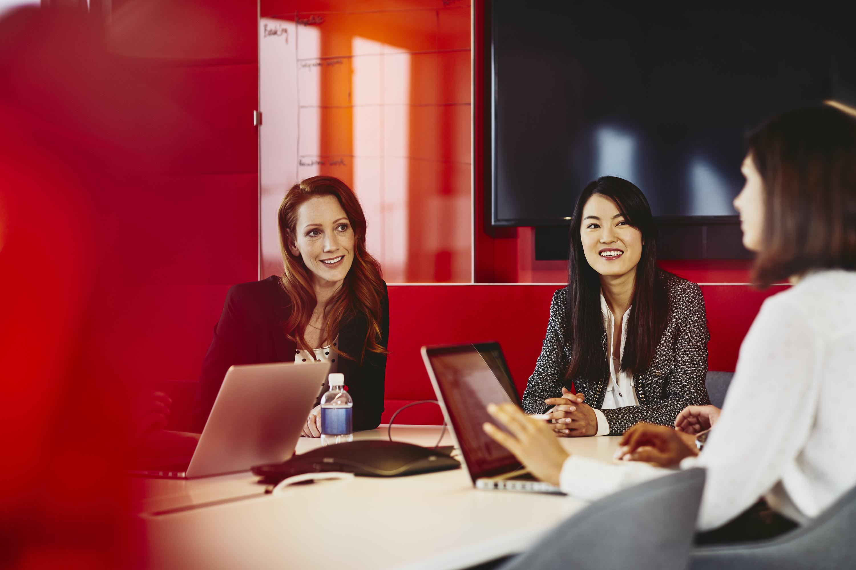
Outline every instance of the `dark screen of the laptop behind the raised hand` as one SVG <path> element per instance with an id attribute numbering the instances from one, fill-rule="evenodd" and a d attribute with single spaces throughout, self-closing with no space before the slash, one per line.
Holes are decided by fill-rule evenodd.
<path id="1" fill-rule="evenodd" d="M 442 399 L 449 414 L 452 429 L 473 481 L 479 477 L 508 473 L 520 467 L 520 461 L 482 429 L 485 421 L 496 424 L 487 413 L 489 403 L 517 402 L 516 398 L 508 394 L 505 383 L 497 379 L 491 369 L 496 367 L 497 362 L 504 365 L 502 352 L 499 352 L 498 360 L 496 357 L 491 360 L 490 356 L 485 359 L 484 351 L 479 351 L 476 346 L 466 344 L 425 349 L 437 382 L 437 396 Z M 498 345 L 496 348 L 498 350 Z M 510 378 L 508 383 L 510 390 L 514 391 Z"/>

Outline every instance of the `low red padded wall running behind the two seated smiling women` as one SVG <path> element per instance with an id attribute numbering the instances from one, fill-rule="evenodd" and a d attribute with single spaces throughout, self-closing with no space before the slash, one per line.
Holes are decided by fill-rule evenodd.
<path id="1" fill-rule="evenodd" d="M 429 344 L 496 340 L 522 393 L 544 340 L 550 299 L 559 285 L 390 285 L 389 361 L 383 421 L 405 403 L 434 399 L 419 349 Z M 709 368 L 733 371 L 740 342 L 766 297 L 785 287 L 755 291 L 745 285 L 703 285 Z M 173 290 L 162 352 L 140 363 L 153 379 L 195 379 L 211 341 L 226 286 Z M 402 412 L 397 423 L 436 424 L 436 406 Z"/>

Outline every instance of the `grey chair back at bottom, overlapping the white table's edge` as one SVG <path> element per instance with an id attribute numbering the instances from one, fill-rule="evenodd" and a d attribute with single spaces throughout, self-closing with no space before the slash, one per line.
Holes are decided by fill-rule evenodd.
<path id="1" fill-rule="evenodd" d="M 686 570 L 703 489 L 704 470 L 689 469 L 619 491 L 500 568 Z"/>

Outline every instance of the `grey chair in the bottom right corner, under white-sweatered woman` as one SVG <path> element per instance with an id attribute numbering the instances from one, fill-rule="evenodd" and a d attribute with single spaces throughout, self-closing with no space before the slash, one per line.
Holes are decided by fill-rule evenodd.
<path id="1" fill-rule="evenodd" d="M 771 540 L 693 549 L 693 570 L 839 570 L 856 567 L 856 488 L 817 519 Z"/>

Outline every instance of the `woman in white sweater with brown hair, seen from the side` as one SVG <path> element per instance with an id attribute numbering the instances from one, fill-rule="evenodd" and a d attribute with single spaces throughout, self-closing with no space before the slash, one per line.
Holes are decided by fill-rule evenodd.
<path id="1" fill-rule="evenodd" d="M 755 282 L 794 285 L 770 297 L 752 323 L 718 419 L 704 413 L 715 409 L 679 416 L 691 432 L 716 419 L 700 453 L 686 433 L 639 424 L 618 454 L 705 467 L 702 531 L 760 497 L 780 520 L 803 523 L 856 485 L 856 120 L 831 107 L 795 109 L 764 124 L 748 147 L 734 207 L 743 244 L 758 252 Z M 513 406 L 490 410 L 510 435 L 490 424 L 485 431 L 575 497 L 595 500 L 669 473 L 648 462 L 568 455 L 542 422 Z"/>

